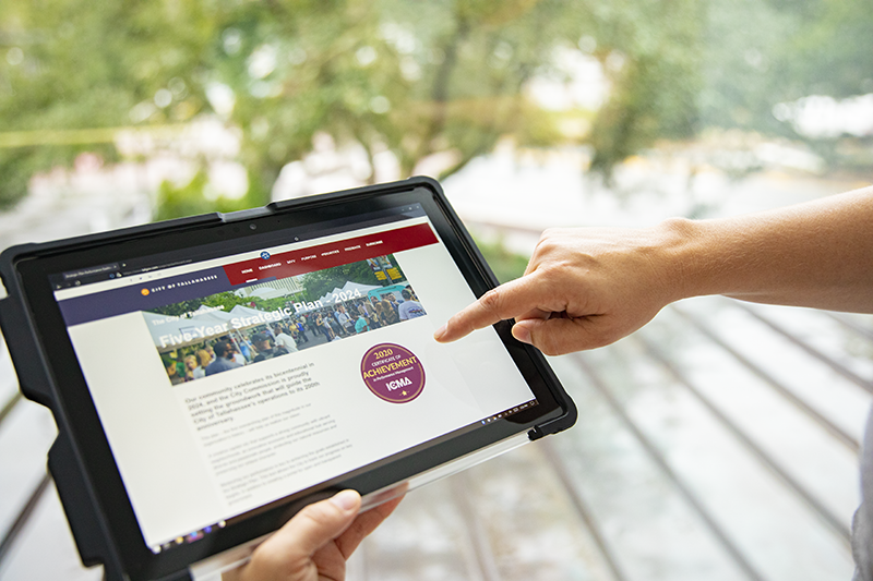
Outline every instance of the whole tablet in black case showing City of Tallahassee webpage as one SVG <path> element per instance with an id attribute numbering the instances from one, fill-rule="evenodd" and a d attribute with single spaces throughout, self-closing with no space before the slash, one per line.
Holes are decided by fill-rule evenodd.
<path id="1" fill-rule="evenodd" d="M 497 281 L 427 178 L 15 246 L 0 274 L 80 555 L 109 579 L 203 577 L 308 503 L 373 506 L 575 421 L 509 322 L 433 340 Z"/>

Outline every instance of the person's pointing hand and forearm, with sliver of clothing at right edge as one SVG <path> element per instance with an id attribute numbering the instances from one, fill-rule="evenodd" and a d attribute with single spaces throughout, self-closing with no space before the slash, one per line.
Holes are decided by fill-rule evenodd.
<path id="1" fill-rule="evenodd" d="M 706 294 L 873 313 L 871 225 L 873 187 L 864 187 L 723 219 L 547 230 L 522 278 L 450 317 L 434 339 L 514 318 L 517 340 L 559 355 L 610 344 L 669 303 Z M 860 468 L 854 579 L 873 581 L 873 414 Z"/>

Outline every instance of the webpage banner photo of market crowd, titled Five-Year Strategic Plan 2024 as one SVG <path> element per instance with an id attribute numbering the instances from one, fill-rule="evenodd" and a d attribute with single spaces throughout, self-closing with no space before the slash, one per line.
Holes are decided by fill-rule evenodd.
<path id="1" fill-rule="evenodd" d="M 379 256 L 143 316 L 170 384 L 180 385 L 427 315 L 396 264 Z"/>

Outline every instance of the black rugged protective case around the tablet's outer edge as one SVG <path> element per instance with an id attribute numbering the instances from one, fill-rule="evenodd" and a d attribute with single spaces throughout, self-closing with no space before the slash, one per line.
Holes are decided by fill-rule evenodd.
<path id="1" fill-rule="evenodd" d="M 318 196 L 274 202 L 262 208 L 230 214 L 206 214 L 41 244 L 22 244 L 9 247 L 0 254 L 0 278 L 2 278 L 2 283 L 8 294 L 5 298 L 0 299 L 0 329 L 2 329 L 5 337 L 22 394 L 27 399 L 49 408 L 55 416 L 58 437 L 48 453 L 48 470 L 55 480 L 55 485 L 61 498 L 63 510 L 67 513 L 67 519 L 70 522 L 70 529 L 83 565 L 91 567 L 101 564 L 104 566 L 104 579 L 107 581 L 123 581 L 127 579 L 120 556 L 108 534 L 107 522 L 100 508 L 99 499 L 94 494 L 94 487 L 89 482 L 88 475 L 82 470 L 80 452 L 71 437 L 68 420 L 59 402 L 56 384 L 46 364 L 46 353 L 41 349 L 41 343 L 32 322 L 32 315 L 17 276 L 16 264 L 28 257 L 46 256 L 56 251 L 65 252 L 106 244 L 117 240 L 135 240 L 169 232 L 195 230 L 211 223 L 231 223 L 274 214 L 284 214 L 294 208 L 313 208 L 333 203 L 338 197 L 367 197 L 374 193 L 403 192 L 415 187 L 424 187 L 434 194 L 441 209 L 445 213 L 449 222 L 453 226 L 458 239 L 464 243 L 482 277 L 492 286 L 498 286 L 497 277 L 486 263 L 469 232 L 467 232 L 467 229 L 449 204 L 442 187 L 435 180 L 426 177 L 409 178 L 398 182 L 345 190 Z M 549 379 L 550 385 L 560 390 L 554 396 L 564 410 L 561 416 L 535 426 L 528 432 L 528 437 L 535 440 L 571 427 L 576 422 L 577 413 L 573 400 L 564 391 L 551 367 L 545 364 L 542 354 L 536 350 L 531 350 L 531 354 L 538 358 L 540 363 L 538 366 Z M 160 581 L 190 579 L 189 570 L 186 569 L 170 577 L 164 577 Z"/>

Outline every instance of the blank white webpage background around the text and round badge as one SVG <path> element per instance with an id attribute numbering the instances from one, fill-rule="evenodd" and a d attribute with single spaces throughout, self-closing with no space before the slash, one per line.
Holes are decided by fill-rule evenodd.
<path id="1" fill-rule="evenodd" d="M 395 253 L 395 258 L 428 316 L 190 386 L 170 386 L 140 313 L 69 329 L 147 545 L 214 524 L 530 400 L 529 388 L 493 329 L 447 346 L 433 341 L 436 327 L 474 300 L 444 246 L 431 244 Z M 421 360 L 427 380 L 416 400 L 385 402 L 364 386 L 361 358 L 381 342 L 402 344 Z M 303 362 L 315 364 L 313 375 L 322 383 L 306 394 L 313 403 L 308 415 L 332 414 L 337 429 L 348 434 L 354 447 L 342 465 L 320 467 L 298 482 L 259 489 L 244 507 L 229 507 L 202 456 L 200 437 L 180 395 L 212 391 L 261 377 L 274 366 L 287 368 Z M 332 439 L 337 435 L 332 434 Z"/>

